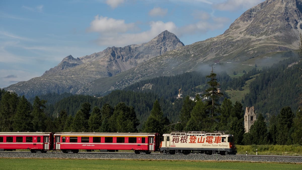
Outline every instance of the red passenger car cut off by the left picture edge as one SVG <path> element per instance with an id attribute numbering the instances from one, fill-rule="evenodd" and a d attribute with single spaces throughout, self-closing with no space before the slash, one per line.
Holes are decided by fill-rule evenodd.
<path id="1" fill-rule="evenodd" d="M 0 151 L 30 149 L 46 153 L 53 149 L 52 132 L 0 132 Z"/>

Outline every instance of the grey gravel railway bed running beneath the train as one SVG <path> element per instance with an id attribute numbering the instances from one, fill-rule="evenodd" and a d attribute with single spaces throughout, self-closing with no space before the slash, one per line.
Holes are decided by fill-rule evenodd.
<path id="1" fill-rule="evenodd" d="M 204 155 L 204 154 L 135 154 L 133 152 L 79 152 L 79 153 L 31 153 L 0 152 L 0 158 L 72 158 L 72 159 L 155 159 L 155 160 L 210 160 L 249 162 L 292 162 L 302 163 L 302 156 L 283 155 Z"/>

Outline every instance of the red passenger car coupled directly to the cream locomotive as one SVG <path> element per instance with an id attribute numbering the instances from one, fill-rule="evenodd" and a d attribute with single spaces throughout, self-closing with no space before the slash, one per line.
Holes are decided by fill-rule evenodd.
<path id="1" fill-rule="evenodd" d="M 54 134 L 54 149 L 64 153 L 78 153 L 79 149 L 85 149 L 102 152 L 134 150 L 136 154 L 150 154 L 158 151 L 159 138 L 159 133 L 57 132 Z"/>

